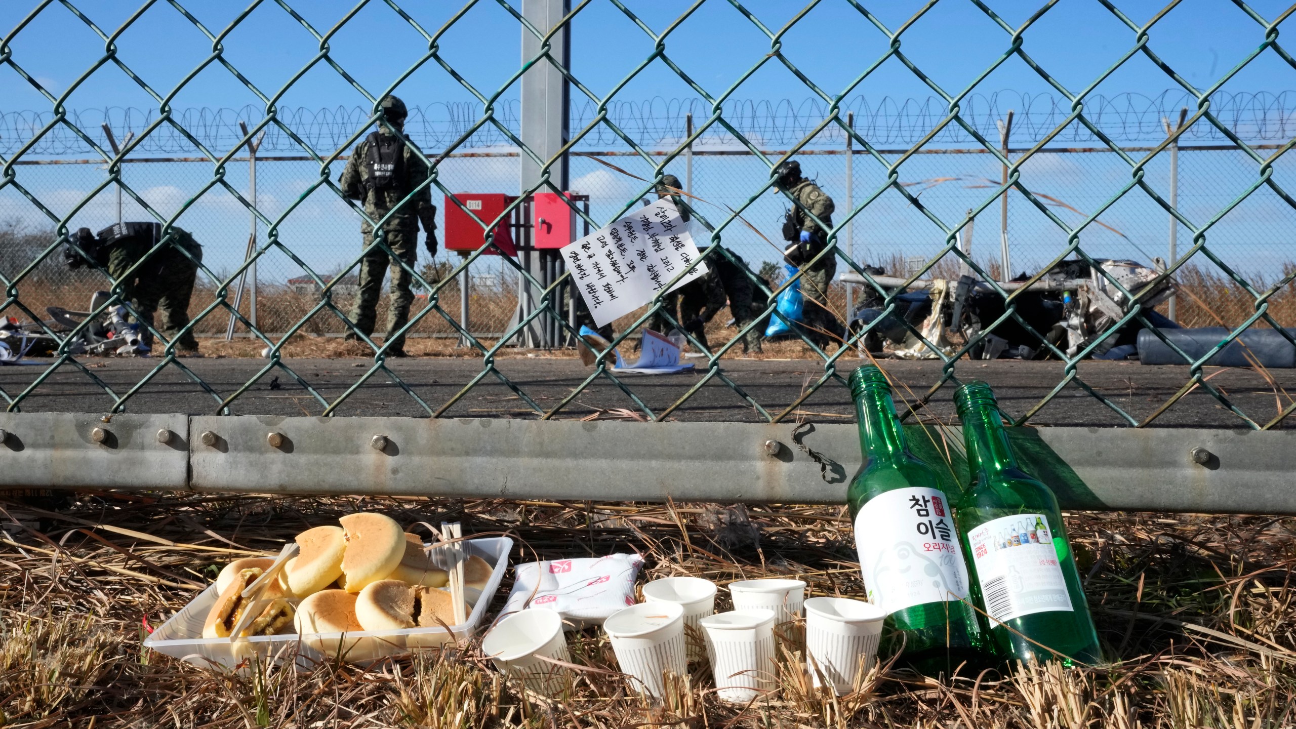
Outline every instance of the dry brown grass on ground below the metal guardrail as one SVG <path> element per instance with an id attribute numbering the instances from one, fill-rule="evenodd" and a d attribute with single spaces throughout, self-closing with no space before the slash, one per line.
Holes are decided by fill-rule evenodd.
<path id="1" fill-rule="evenodd" d="M 749 707 L 718 703 L 705 665 L 695 665 L 665 706 L 649 707 L 619 678 L 597 672 L 575 675 L 562 700 L 525 694 L 489 665 L 477 641 L 368 669 L 259 665 L 244 675 L 150 655 L 140 643 L 145 621 L 166 620 L 226 560 L 277 551 L 305 527 L 355 508 L 382 510 L 404 524 L 459 519 L 465 533 L 509 532 L 521 545 L 513 563 L 638 550 L 648 556 L 643 579 L 797 575 L 811 594 L 858 595 L 850 524 L 840 507 L 750 507 L 752 528 L 708 505 L 96 493 L 78 496 L 61 515 L 12 501 L 4 508 L 5 726 L 1293 724 L 1293 519 L 1068 515 L 1109 665 L 966 669 L 947 680 L 879 671 L 859 693 L 833 697 L 809 686 L 796 646 L 784 645 L 780 689 Z M 724 590 L 719 607 L 727 607 Z M 578 633 L 572 655 L 581 665 L 616 669 L 597 630 Z"/>

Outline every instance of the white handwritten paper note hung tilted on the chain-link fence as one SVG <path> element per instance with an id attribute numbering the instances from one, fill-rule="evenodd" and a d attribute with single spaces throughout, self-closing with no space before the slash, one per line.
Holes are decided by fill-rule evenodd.
<path id="1" fill-rule="evenodd" d="M 572 280 L 599 327 L 652 301 L 697 256 L 688 223 L 669 197 L 562 248 Z M 704 274 L 706 263 L 699 263 L 671 289 Z"/>

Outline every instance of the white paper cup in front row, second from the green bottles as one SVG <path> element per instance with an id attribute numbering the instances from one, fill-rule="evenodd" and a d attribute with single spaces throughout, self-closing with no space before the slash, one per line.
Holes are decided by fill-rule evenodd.
<path id="1" fill-rule="evenodd" d="M 721 700 L 748 703 L 774 689 L 774 621 L 766 607 L 702 617 Z"/>

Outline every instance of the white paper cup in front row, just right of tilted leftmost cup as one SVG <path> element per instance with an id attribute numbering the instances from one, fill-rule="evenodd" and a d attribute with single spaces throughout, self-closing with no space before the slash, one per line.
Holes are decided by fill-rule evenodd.
<path id="1" fill-rule="evenodd" d="M 674 602 L 642 602 L 613 612 L 603 623 L 612 638 L 621 671 L 634 676 L 634 690 L 654 698 L 665 695 L 662 675 L 683 676 L 688 669 L 684 651 L 684 608 Z"/>

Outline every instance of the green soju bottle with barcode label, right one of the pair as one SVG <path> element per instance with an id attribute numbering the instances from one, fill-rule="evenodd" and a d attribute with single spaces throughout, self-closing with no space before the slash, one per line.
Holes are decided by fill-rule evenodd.
<path id="1" fill-rule="evenodd" d="M 1098 663 L 1098 634 L 1058 498 L 1017 468 L 990 385 L 968 383 L 954 402 L 972 475 L 955 510 L 972 567 L 972 593 L 989 616 L 995 649 L 1008 660 Z M 998 541 L 995 534 L 1004 531 L 1020 541 Z"/>

